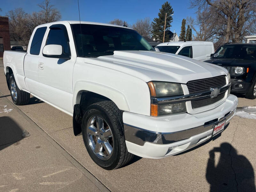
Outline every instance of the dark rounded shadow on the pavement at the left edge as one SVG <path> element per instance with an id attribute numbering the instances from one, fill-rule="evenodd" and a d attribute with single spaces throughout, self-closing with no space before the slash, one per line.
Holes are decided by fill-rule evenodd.
<path id="1" fill-rule="evenodd" d="M 29 133 L 23 131 L 12 118 L 0 117 L 0 151 L 12 144 L 18 145 L 18 141 L 28 136 Z"/>

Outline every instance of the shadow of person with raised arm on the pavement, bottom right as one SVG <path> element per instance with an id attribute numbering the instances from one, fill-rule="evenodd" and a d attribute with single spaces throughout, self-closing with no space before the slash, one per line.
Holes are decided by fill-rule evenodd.
<path id="1" fill-rule="evenodd" d="M 220 160 L 215 166 L 216 152 L 220 152 Z M 222 143 L 209 151 L 209 155 L 205 176 L 211 185 L 210 192 L 255 192 L 253 167 L 245 156 L 237 155 L 232 145 Z"/>

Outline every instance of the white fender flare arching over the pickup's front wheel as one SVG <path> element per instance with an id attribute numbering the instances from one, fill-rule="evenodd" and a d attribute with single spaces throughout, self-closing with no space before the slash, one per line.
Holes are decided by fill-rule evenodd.
<path id="1" fill-rule="evenodd" d="M 74 86 L 73 106 L 80 103 L 81 93 L 84 91 L 94 92 L 112 100 L 123 111 L 130 111 L 124 94 L 112 87 L 91 81 L 78 81 Z"/>

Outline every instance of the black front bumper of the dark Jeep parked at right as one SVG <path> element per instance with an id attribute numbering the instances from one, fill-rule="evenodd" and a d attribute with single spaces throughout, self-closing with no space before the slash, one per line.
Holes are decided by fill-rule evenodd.
<path id="1" fill-rule="evenodd" d="M 242 87 L 239 87 L 242 86 Z M 244 94 L 247 93 L 252 83 L 247 83 L 244 79 L 231 79 L 231 92 Z"/>

